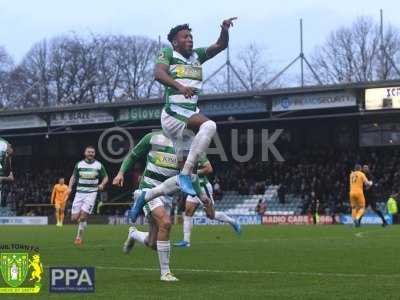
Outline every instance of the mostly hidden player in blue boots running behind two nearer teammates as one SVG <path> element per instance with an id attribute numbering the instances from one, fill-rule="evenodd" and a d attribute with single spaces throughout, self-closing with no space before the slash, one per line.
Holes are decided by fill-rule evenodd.
<path id="1" fill-rule="evenodd" d="M 183 240 L 174 244 L 176 247 L 188 248 L 190 247 L 190 236 L 193 228 L 193 215 L 199 206 L 203 206 L 206 212 L 207 218 L 211 220 L 218 220 L 230 224 L 237 234 L 241 233 L 240 224 L 234 219 L 229 217 L 226 213 L 221 211 L 215 211 L 213 188 L 211 183 L 208 181 L 207 175 L 213 172 L 213 167 L 210 161 L 207 159 L 205 153 L 200 155 L 198 162 L 197 175 L 199 176 L 199 182 L 201 188 L 210 198 L 210 202 L 203 203 L 199 197 L 190 196 L 186 197 L 185 203 L 185 214 L 183 215 Z"/>

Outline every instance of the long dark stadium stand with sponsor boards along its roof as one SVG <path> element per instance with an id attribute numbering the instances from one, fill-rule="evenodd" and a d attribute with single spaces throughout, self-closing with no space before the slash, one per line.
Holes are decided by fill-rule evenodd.
<path id="1" fill-rule="evenodd" d="M 397 192 L 400 81 L 205 95 L 199 103 L 218 124 L 209 156 L 216 208 L 244 223 L 309 223 L 313 197 L 320 198 L 320 214 L 326 215 L 321 222 L 331 223 L 332 216 L 340 221 L 349 212 L 346 185 L 355 162 L 372 165 L 380 202 Z M 59 176 L 69 178 L 89 144 L 114 177 L 129 147 L 160 128 L 162 105 L 162 99 L 149 99 L 1 111 L 1 136 L 14 146 L 16 177 L 3 187 L 1 214 L 52 215 L 52 185 Z M 280 155 L 265 146 L 274 133 Z M 140 169 L 122 193 L 108 187 L 99 214 L 123 215 Z M 263 218 L 255 211 L 260 200 L 266 205 Z M 199 212 L 195 222 L 207 221 Z"/>

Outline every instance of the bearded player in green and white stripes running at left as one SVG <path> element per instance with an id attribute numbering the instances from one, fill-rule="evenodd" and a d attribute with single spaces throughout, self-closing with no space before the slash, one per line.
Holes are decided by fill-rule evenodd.
<path id="1" fill-rule="evenodd" d="M 67 191 L 68 198 L 76 183 L 71 221 L 78 223 L 78 233 L 74 242 L 77 246 L 83 243 L 83 232 L 87 226 L 88 215 L 92 213 L 96 203 L 97 192 L 104 190 L 108 182 L 106 169 L 101 162 L 95 160 L 96 150 L 94 147 L 87 146 L 84 155 L 85 159 L 75 165 Z"/>

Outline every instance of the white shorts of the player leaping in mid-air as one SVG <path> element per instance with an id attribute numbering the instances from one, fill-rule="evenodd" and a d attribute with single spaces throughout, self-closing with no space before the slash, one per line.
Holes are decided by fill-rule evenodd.
<path id="1" fill-rule="evenodd" d="M 198 113 L 198 111 L 187 111 L 188 118 Z M 186 122 L 175 118 L 163 109 L 161 112 L 161 127 L 164 134 L 172 141 L 178 158 L 186 157 L 195 136 L 193 131 L 186 128 Z"/>

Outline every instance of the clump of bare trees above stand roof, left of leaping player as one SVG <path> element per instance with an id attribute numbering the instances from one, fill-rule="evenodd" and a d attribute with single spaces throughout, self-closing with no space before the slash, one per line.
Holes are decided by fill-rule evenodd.
<path id="1" fill-rule="evenodd" d="M 40 107 L 158 95 L 153 79 L 158 48 L 157 42 L 135 36 L 43 40 L 8 74 L 17 91 L 10 99 L 15 107 Z"/>

